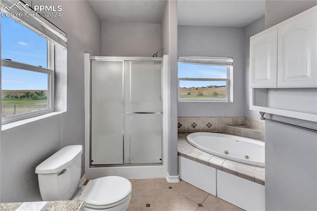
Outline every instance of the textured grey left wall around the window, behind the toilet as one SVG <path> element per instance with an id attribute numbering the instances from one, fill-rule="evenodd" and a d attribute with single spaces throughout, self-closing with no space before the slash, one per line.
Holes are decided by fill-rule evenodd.
<path id="1" fill-rule="evenodd" d="M 67 112 L 1 131 L 0 202 L 42 201 L 35 167 L 60 148 L 84 146 L 84 53 L 101 54 L 101 22 L 87 1 L 28 1 L 62 5 L 50 18 L 67 33 Z M 84 163 L 84 157 L 83 157 Z M 84 168 L 82 168 L 82 174 Z"/>

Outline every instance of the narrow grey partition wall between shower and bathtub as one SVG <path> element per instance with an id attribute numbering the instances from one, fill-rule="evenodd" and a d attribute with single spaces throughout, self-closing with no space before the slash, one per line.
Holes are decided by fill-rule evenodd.
<path id="1" fill-rule="evenodd" d="M 167 0 L 161 21 L 161 44 L 168 54 L 168 167 L 169 176 L 178 176 L 177 159 L 177 1 Z"/>

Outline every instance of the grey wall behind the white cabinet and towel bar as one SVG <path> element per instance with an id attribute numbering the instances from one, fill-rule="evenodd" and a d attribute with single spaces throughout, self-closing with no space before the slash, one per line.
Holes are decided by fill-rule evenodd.
<path id="1" fill-rule="evenodd" d="M 265 28 L 303 12 L 317 1 L 265 3 Z M 317 129 L 316 122 L 272 115 L 271 118 Z M 317 135 L 265 121 L 265 209 L 317 210 Z"/>

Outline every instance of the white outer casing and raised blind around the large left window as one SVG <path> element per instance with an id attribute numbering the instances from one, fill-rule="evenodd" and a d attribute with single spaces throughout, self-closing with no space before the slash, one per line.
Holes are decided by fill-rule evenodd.
<path id="1" fill-rule="evenodd" d="M 13 6 L 14 4 L 16 6 Z M 19 117 L 13 120 L 5 119 L 4 121 L 3 118 L 7 117 L 1 117 L 1 130 L 12 128 L 24 124 L 25 122 L 36 121 L 51 114 L 55 115 L 67 111 L 67 34 L 51 21 L 39 15 L 38 12 L 34 11 L 30 5 L 22 0 L 1 0 L 1 8 L 3 9 L 0 13 L 5 13 L 6 17 L 12 18 L 17 23 L 22 24 L 48 41 L 48 66 L 47 68 L 42 67 L 42 70 L 47 69 L 48 71 L 53 71 L 49 74 L 49 86 L 51 90 L 48 92 L 48 103 L 50 103 L 51 106 L 48 109 L 43 109 L 47 112 L 32 113 L 32 115 L 26 117 Z M 18 14 L 18 16 L 15 16 L 15 14 Z M 58 62 L 55 61 L 57 57 L 59 58 Z M 2 62 L 2 59 L 0 62 Z M 4 61 L 4 63 L 6 63 L 6 61 Z M 11 64 L 13 63 L 11 62 Z M 0 78 L 1 66 L 3 65 L 0 65 Z M 30 112 L 28 112 L 28 114 L 29 113 Z"/>

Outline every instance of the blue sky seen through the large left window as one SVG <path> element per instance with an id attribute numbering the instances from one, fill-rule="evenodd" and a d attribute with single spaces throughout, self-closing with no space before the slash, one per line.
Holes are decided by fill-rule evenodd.
<path id="1" fill-rule="evenodd" d="M 47 40 L 8 17 L 1 17 L 1 58 L 47 67 Z M 48 74 L 1 68 L 2 90 L 47 90 Z"/>

